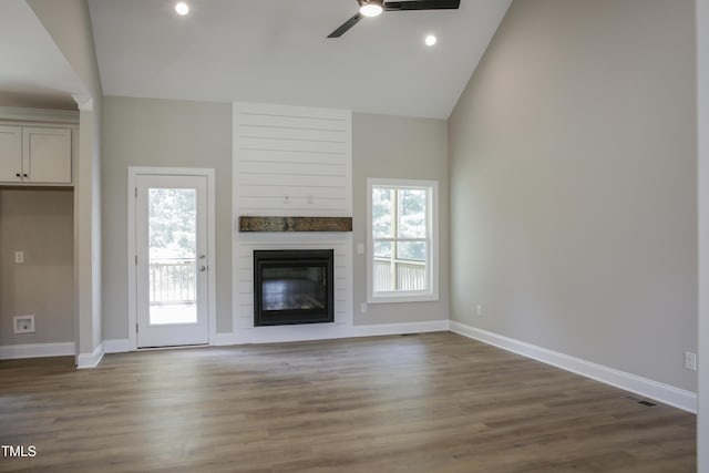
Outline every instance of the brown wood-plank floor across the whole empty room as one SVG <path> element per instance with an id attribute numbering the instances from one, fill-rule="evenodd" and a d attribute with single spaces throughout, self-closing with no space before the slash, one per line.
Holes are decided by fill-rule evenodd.
<path id="1" fill-rule="evenodd" d="M 450 332 L 0 361 L 0 471 L 693 472 L 638 400 Z"/>

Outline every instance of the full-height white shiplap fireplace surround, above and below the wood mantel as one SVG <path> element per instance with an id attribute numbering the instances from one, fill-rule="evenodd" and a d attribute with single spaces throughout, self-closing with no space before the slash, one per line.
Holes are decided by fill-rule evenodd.
<path id="1" fill-rule="evenodd" d="M 352 325 L 351 233 L 239 233 L 238 217 L 352 215 L 351 112 L 234 104 L 234 338 L 335 338 Z M 335 323 L 254 327 L 255 249 L 335 249 Z"/>

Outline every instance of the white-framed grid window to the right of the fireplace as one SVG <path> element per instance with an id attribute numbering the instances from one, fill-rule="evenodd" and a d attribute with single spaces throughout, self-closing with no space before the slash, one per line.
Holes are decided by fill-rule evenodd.
<path id="1" fill-rule="evenodd" d="M 368 302 L 438 300 L 438 183 L 374 179 L 368 187 Z"/>

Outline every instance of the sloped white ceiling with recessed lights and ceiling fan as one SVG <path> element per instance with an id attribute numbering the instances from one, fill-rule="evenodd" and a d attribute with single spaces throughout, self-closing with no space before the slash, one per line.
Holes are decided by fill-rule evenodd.
<path id="1" fill-rule="evenodd" d="M 89 0 L 105 95 L 446 119 L 510 0 L 384 12 L 339 39 L 354 0 L 188 0 L 186 17 L 174 3 Z"/>

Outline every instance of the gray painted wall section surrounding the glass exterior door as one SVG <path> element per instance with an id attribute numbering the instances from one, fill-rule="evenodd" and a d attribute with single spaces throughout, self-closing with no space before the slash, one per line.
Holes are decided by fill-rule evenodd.
<path id="1" fill-rule="evenodd" d="M 129 166 L 216 169 L 217 332 L 232 331 L 232 105 L 107 96 L 103 107 L 104 339 L 129 336 Z"/>

